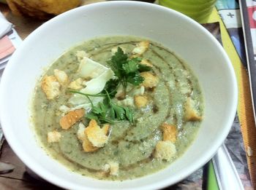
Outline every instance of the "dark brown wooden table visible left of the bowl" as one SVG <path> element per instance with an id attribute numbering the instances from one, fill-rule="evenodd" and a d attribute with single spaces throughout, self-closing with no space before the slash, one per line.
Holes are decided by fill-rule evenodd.
<path id="1" fill-rule="evenodd" d="M 12 15 L 6 4 L 0 3 L 0 11 L 15 25 L 15 30 L 22 39 L 25 39 L 34 29 L 42 25 L 43 21 Z M 15 165 L 12 173 L 0 175 L 0 189 L 58 189 L 50 183 L 38 181 L 26 172 L 26 166 L 12 151 L 5 141 L 1 149 L 1 162 L 10 162 Z"/>

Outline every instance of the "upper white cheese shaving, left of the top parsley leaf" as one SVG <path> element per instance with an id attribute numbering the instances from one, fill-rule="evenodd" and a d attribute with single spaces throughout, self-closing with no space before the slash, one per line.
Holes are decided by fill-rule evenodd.
<path id="1" fill-rule="evenodd" d="M 97 63 L 90 58 L 83 57 L 80 61 L 80 66 L 78 68 L 78 74 L 83 78 L 91 78 L 94 79 L 97 76 L 103 74 L 109 68 L 102 66 L 100 63 Z"/>

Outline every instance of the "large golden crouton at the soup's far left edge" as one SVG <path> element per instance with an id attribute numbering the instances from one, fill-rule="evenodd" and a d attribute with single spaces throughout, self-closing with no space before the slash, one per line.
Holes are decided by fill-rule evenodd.
<path id="1" fill-rule="evenodd" d="M 42 91 L 45 92 L 48 100 L 53 100 L 59 96 L 61 85 L 55 76 L 45 76 L 41 82 Z"/>

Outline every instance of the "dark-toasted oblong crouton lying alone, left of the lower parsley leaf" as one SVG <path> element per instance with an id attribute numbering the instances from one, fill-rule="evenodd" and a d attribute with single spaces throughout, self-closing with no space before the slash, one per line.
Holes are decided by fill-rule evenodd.
<path id="1" fill-rule="evenodd" d="M 61 117 L 61 120 L 59 121 L 59 124 L 61 125 L 61 128 L 64 130 L 68 130 L 70 127 L 72 127 L 73 124 L 79 121 L 82 116 L 84 116 L 85 111 L 84 109 L 76 109 L 74 111 L 69 111 L 66 115 Z"/>

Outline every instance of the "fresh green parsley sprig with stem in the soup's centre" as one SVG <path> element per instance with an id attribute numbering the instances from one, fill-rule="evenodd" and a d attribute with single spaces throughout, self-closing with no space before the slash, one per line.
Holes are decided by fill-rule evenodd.
<path id="1" fill-rule="evenodd" d="M 133 122 L 134 114 L 132 109 L 128 107 L 119 106 L 111 100 L 115 97 L 117 88 L 121 84 L 124 89 L 124 95 L 126 95 L 127 84 L 133 84 L 135 86 L 140 85 L 143 82 L 143 77 L 140 76 L 140 72 L 150 71 L 151 67 L 145 66 L 140 63 L 141 58 L 128 58 L 128 55 L 118 47 L 115 55 L 108 61 L 108 65 L 113 70 L 117 79 L 110 79 L 106 82 L 102 92 L 96 95 L 89 95 L 83 92 L 70 90 L 70 92 L 85 95 L 91 103 L 91 111 L 86 114 L 86 118 L 95 119 L 100 123 L 113 123 L 127 119 L 129 122 Z M 105 97 L 103 102 L 94 105 L 91 101 L 91 97 Z"/>

